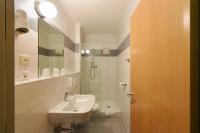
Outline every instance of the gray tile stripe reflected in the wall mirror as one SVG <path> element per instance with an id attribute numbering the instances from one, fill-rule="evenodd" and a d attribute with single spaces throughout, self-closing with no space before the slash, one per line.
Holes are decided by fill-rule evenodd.
<path id="1" fill-rule="evenodd" d="M 44 56 L 64 56 L 64 54 L 56 54 L 55 50 L 53 49 L 47 49 L 43 47 L 38 48 L 38 53 L 39 55 L 44 55 Z M 63 51 L 64 53 L 64 51 Z"/>

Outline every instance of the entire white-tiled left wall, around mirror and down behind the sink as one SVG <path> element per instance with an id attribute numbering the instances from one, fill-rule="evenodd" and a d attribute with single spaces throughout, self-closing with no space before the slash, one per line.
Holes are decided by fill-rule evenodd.
<path id="1" fill-rule="evenodd" d="M 57 0 L 51 1 L 58 9 L 58 16 L 49 21 L 72 41 L 77 42 L 77 40 L 75 40 L 74 22 L 64 12 Z M 38 16 L 34 11 L 34 0 L 15 0 L 15 9 L 25 10 L 30 23 L 30 32 L 28 34 L 16 36 L 15 39 L 16 73 L 29 70 L 34 76 L 32 78 L 36 78 L 38 73 Z M 79 55 L 68 48 L 65 48 L 64 52 L 64 65 L 68 73 L 66 76 L 38 80 L 15 86 L 15 133 L 53 132 L 53 126 L 48 122 L 48 111 L 63 100 L 64 91 L 69 91 L 67 82 L 69 77 L 73 78 L 73 88 L 71 91 L 77 94 L 80 93 L 80 73 L 78 70 L 78 65 L 80 65 L 80 63 L 76 61 Z M 30 57 L 29 65 L 23 66 L 19 64 L 20 54 L 26 54 Z"/>

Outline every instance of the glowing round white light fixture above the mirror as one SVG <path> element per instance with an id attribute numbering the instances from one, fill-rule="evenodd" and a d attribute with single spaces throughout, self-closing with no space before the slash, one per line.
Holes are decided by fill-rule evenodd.
<path id="1" fill-rule="evenodd" d="M 35 10 L 41 18 L 54 18 L 57 15 L 55 5 L 47 0 L 36 1 Z"/>

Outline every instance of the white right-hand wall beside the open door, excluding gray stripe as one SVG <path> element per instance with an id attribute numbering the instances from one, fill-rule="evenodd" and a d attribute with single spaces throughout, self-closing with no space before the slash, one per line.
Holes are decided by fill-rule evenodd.
<path id="1" fill-rule="evenodd" d="M 122 21 L 118 27 L 118 46 L 123 40 L 130 34 L 130 20 L 131 16 L 137 8 L 140 0 L 130 0 L 130 3 L 124 12 Z M 118 99 L 120 108 L 122 111 L 122 120 L 124 122 L 126 132 L 130 133 L 130 100 L 127 94 L 130 93 L 130 63 L 125 61 L 130 58 L 130 47 L 125 49 L 117 58 L 117 83 L 126 82 L 126 89 L 122 89 L 118 86 Z"/>

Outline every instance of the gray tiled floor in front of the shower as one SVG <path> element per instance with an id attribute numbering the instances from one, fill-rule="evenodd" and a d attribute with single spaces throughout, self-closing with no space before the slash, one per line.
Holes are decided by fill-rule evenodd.
<path id="1" fill-rule="evenodd" d="M 78 127 L 77 133 L 125 133 L 121 118 L 93 118 Z"/>

